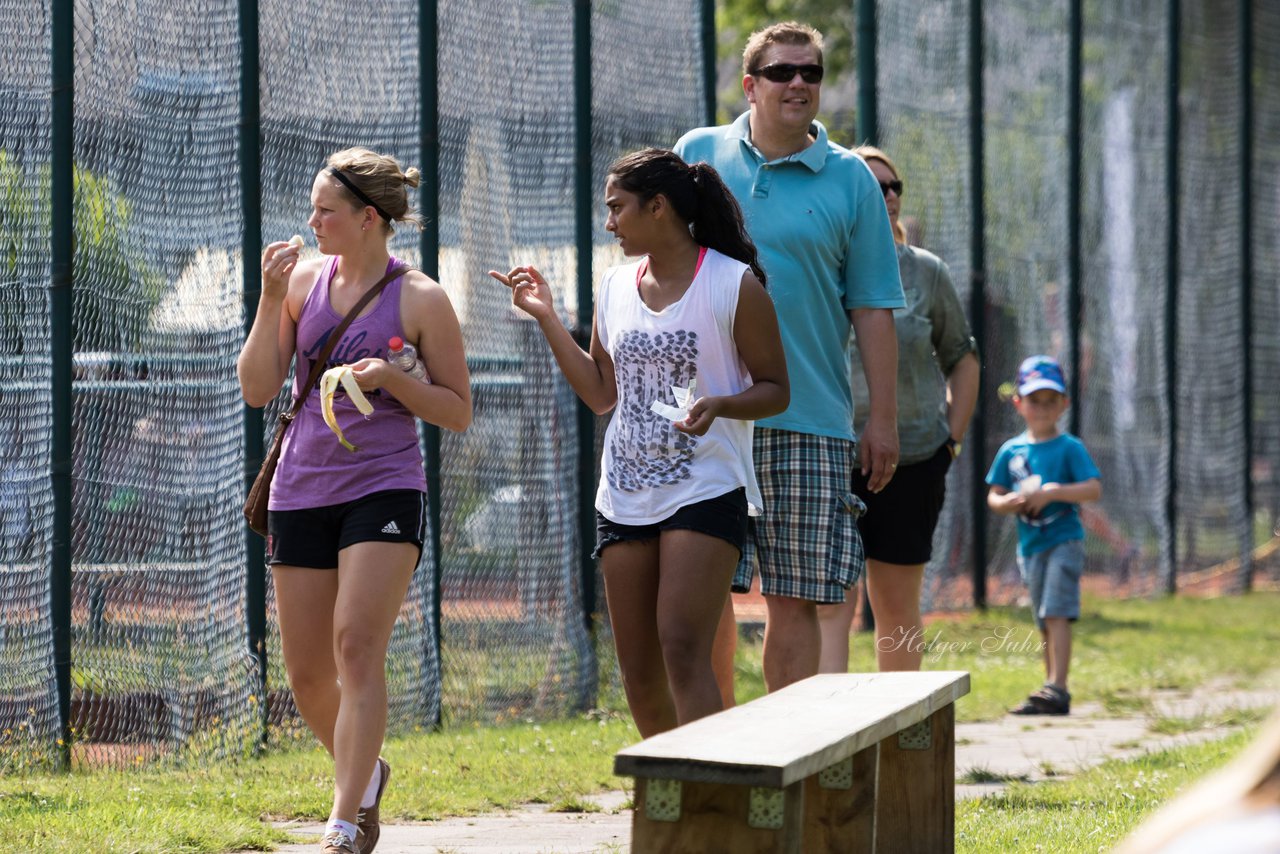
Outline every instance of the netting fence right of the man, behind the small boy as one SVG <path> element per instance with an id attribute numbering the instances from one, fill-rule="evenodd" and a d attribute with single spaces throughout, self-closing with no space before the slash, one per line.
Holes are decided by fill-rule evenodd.
<path id="1" fill-rule="evenodd" d="M 970 607 L 975 576 L 983 576 L 989 603 L 1021 595 L 1014 525 L 975 510 L 984 487 L 975 485 L 968 455 L 978 455 L 986 471 L 1001 442 L 1023 429 L 996 391 L 1036 352 L 1076 366 L 1078 431 L 1103 472 L 1102 501 L 1083 511 L 1087 586 L 1143 595 L 1274 584 L 1280 568 L 1270 557 L 1280 493 L 1280 426 L 1268 388 L 1280 370 L 1270 332 L 1280 287 L 1274 4 L 1248 4 L 1251 27 L 1242 27 L 1242 4 L 1181 4 L 1176 45 L 1167 5 L 1083 4 L 1074 319 L 1073 4 L 877 6 L 879 143 L 906 179 L 904 219 L 922 246 L 947 261 L 969 306 L 975 201 L 984 219 L 986 264 L 977 280 L 986 443 L 968 443 L 964 465 L 952 467 L 925 608 Z M 975 8 L 980 81 L 970 74 Z M 1249 154 L 1242 129 L 1244 33 L 1252 40 Z M 975 117 L 979 82 L 984 109 Z M 979 188 L 970 173 L 979 154 L 975 120 L 984 164 Z M 1244 188 L 1252 192 L 1248 232 Z M 1073 341 L 1079 352 L 1071 352 Z M 975 524 L 984 526 L 984 548 L 975 548 Z M 975 553 L 986 556 L 978 572 Z"/>

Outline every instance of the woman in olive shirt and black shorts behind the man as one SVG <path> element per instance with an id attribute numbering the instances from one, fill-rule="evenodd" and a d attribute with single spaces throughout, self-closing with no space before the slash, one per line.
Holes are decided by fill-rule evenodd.
<path id="1" fill-rule="evenodd" d="M 893 312 L 899 342 L 899 467 L 878 493 L 869 492 L 867 479 L 854 471 L 854 492 L 867 503 L 858 530 L 867 551 L 877 663 L 882 671 L 919 670 L 924 565 L 933 552 L 947 470 L 960 453 L 978 398 L 978 357 L 946 264 L 906 243 L 906 229 L 899 222 L 902 181 L 897 166 L 879 149 L 863 146 L 855 154 L 867 161 L 884 192 L 906 296 L 906 309 Z M 861 376 L 860 370 L 852 374 Z M 865 393 L 854 410 L 865 416 Z M 820 672 L 849 668 L 849 626 L 856 600 L 850 595 L 844 604 L 818 606 Z"/>

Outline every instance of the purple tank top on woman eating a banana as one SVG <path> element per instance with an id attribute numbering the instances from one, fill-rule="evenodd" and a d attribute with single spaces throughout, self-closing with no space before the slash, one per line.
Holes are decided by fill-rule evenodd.
<path id="1" fill-rule="evenodd" d="M 393 257 L 390 265 L 397 264 Z M 392 269 L 388 265 L 388 270 Z M 342 315 L 329 303 L 329 286 L 338 269 L 337 259 L 328 259 L 302 303 L 294 351 L 293 397 L 297 399 L 312 361 L 320 355 L 329 334 L 342 323 Z M 329 355 L 325 370 L 351 365 L 361 359 L 385 359 L 387 342 L 393 335 L 404 337 L 401 323 L 401 284 L 394 279 L 364 318 L 347 326 L 342 341 Z M 271 510 L 303 510 L 355 501 L 384 489 L 417 489 L 426 492 L 422 452 L 417 444 L 417 420 L 383 389 L 367 392 L 374 411 L 366 420 L 343 393 L 342 385 L 333 396 L 333 411 L 343 435 L 357 451 L 338 444 L 338 437 L 324 423 L 320 412 L 320 383 L 316 383 L 298 417 L 284 434 L 280 462 L 271 480 Z"/>

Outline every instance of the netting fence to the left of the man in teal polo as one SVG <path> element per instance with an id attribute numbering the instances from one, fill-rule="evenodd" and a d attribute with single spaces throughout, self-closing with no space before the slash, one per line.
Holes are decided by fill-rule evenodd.
<path id="1" fill-rule="evenodd" d="M 337 149 L 364 145 L 426 165 L 420 15 L 435 6 L 438 165 L 424 189 L 438 195 L 439 215 L 426 227 L 462 323 L 475 419 L 440 444 L 442 560 L 435 566 L 433 549 L 424 552 L 396 625 L 390 729 L 590 708 L 598 639 L 581 576 L 577 403 L 536 326 L 513 314 L 485 271 L 539 265 L 573 321 L 575 164 L 582 156 L 573 128 L 594 122 L 586 155 L 600 182 L 594 198 L 603 164 L 640 145 L 669 145 L 698 124 L 700 6 L 593 5 L 585 55 L 595 97 L 576 105 L 573 23 L 582 4 L 397 0 L 360 27 L 325 0 L 68 5 L 69 321 L 51 315 L 49 289 L 58 10 L 0 4 L 0 58 L 12 69 L 0 86 L 8 117 L 0 128 L 0 412 L 13 437 L 0 452 L 0 767 L 67 757 L 83 766 L 209 761 L 259 749 L 264 721 L 268 744 L 305 735 L 269 583 L 265 693 L 246 630 L 244 417 L 234 373 L 244 334 L 246 14 L 255 15 L 260 40 L 256 214 L 269 242 L 305 230 L 311 181 Z M 655 22 L 663 22 L 658 51 L 646 46 Z M 628 69 L 640 61 L 680 93 L 632 97 Z M 600 211 L 596 202 L 593 215 L 603 220 Z M 599 271 L 617 259 L 612 241 L 595 237 L 600 247 L 588 264 Z M 392 251 L 422 264 L 411 229 L 401 229 Z M 49 438 L 50 353 L 64 334 L 74 335 L 65 732 L 54 653 L 59 606 L 50 593 L 58 567 Z M 287 398 L 282 388 L 268 407 L 265 440 Z"/>

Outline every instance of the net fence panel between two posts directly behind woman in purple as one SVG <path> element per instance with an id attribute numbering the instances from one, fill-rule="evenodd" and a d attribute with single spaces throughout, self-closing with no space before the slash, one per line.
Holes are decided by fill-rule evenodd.
<path id="1" fill-rule="evenodd" d="M 260 4 L 262 241 L 302 234 L 302 257 L 316 257 L 307 219 L 311 184 L 328 156 L 352 146 L 394 156 L 401 166 L 419 161 L 419 4 L 393 0 L 361 13 L 360 26 L 320 0 Z M 410 202 L 415 204 L 411 191 Z M 392 254 L 421 262 L 419 232 L 397 224 Z M 257 262 L 257 259 L 253 259 Z M 292 402 L 292 376 L 268 407 L 264 442 L 275 412 Z M 433 630 L 433 568 L 424 549 L 392 631 L 387 656 L 388 730 L 403 732 L 439 714 L 439 654 Z M 269 581 L 269 739 L 305 739 L 288 690 L 279 641 L 274 585 Z"/>

